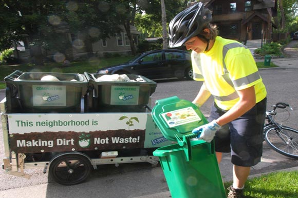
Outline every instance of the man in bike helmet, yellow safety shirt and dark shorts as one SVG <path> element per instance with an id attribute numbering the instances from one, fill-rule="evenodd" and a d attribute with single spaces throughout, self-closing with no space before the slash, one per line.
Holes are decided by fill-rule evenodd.
<path id="1" fill-rule="evenodd" d="M 192 132 L 206 142 L 214 138 L 218 163 L 223 152 L 231 152 L 233 184 L 228 197 L 239 198 L 250 167 L 262 156 L 267 92 L 250 50 L 218 36 L 211 21 L 202 3 L 185 9 L 169 24 L 169 45 L 192 50 L 194 80 L 203 81 L 193 103 L 200 107 L 214 97 L 209 123 Z"/>

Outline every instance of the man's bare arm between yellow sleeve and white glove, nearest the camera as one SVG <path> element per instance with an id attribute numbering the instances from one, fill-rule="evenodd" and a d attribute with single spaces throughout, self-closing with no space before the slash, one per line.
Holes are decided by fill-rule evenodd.
<path id="1" fill-rule="evenodd" d="M 237 91 L 239 101 L 224 115 L 215 121 L 218 125 L 225 125 L 249 111 L 256 104 L 254 86 Z"/>

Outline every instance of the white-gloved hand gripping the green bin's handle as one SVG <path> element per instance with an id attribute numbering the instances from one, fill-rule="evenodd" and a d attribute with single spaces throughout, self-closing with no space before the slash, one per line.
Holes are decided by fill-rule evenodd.
<path id="1" fill-rule="evenodd" d="M 204 140 L 205 142 L 211 142 L 215 136 L 215 132 L 220 126 L 214 121 L 206 125 L 199 126 L 193 129 L 192 133 L 198 134 L 198 140 Z"/>

